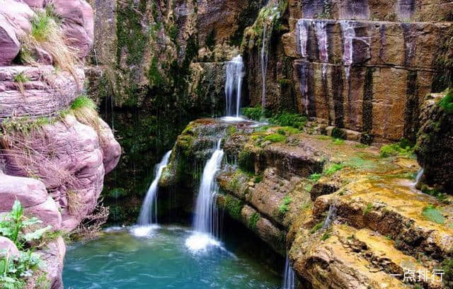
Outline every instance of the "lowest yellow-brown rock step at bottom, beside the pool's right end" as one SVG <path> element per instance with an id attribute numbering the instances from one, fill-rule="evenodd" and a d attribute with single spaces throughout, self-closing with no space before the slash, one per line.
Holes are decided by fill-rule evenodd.
<path id="1" fill-rule="evenodd" d="M 355 232 L 347 225 L 313 234 L 299 229 L 289 251 L 294 271 L 313 288 L 410 288 L 361 254 L 364 248 L 353 242 Z"/>

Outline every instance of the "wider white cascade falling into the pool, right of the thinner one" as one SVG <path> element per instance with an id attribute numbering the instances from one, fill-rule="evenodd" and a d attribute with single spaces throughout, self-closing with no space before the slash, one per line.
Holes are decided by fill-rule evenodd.
<path id="1" fill-rule="evenodd" d="M 214 239 L 218 237 L 219 233 L 217 208 L 215 205 L 217 195 L 215 176 L 220 169 L 224 156 L 224 151 L 220 147 L 221 144 L 222 140 L 219 140 L 214 153 L 207 161 L 205 169 L 203 169 L 193 222 L 195 234 L 185 242 L 186 246 L 192 251 L 206 249 L 210 245 L 219 246 L 219 242 Z"/>

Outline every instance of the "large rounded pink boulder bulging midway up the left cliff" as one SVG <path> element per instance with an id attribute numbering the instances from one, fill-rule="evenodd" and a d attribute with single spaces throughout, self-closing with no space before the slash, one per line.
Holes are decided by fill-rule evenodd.
<path id="1" fill-rule="evenodd" d="M 21 149 L 5 149 L 6 172 L 26 176 L 28 171 L 35 171 L 62 207 L 64 229 L 74 229 L 96 207 L 105 173 L 103 152 L 110 156 L 111 169 L 119 157 L 117 144 L 107 144 L 103 151 L 98 133 L 73 115 L 43 125 L 39 133 L 25 136 L 23 142 L 33 152 L 21 158 Z M 112 148 L 115 152 L 110 152 Z M 48 155 L 49 150 L 53 157 Z"/>

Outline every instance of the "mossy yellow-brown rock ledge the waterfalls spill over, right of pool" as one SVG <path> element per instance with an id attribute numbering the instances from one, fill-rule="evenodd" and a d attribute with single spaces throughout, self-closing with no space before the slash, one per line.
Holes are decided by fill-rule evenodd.
<path id="1" fill-rule="evenodd" d="M 223 132 L 219 208 L 278 254 L 289 254 L 302 283 L 412 288 L 403 280 L 408 269 L 451 272 L 453 198 L 415 188 L 420 166 L 408 142 L 362 145 L 315 134 L 326 130 L 300 118 L 289 122 L 297 128 L 282 126 L 292 116 L 282 113 L 270 119 L 274 125 L 258 127 L 190 123 L 173 148 L 159 198 L 194 179 Z M 436 278 L 424 288 L 442 288 Z"/>

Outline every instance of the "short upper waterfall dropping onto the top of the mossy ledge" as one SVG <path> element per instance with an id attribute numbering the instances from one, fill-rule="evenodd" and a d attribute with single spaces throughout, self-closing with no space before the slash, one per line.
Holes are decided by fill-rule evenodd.
<path id="1" fill-rule="evenodd" d="M 241 55 L 234 57 L 226 62 L 226 116 L 236 116 L 239 118 L 241 108 L 241 90 L 243 79 L 243 61 Z M 234 106 L 234 92 L 236 91 L 236 106 Z"/>

